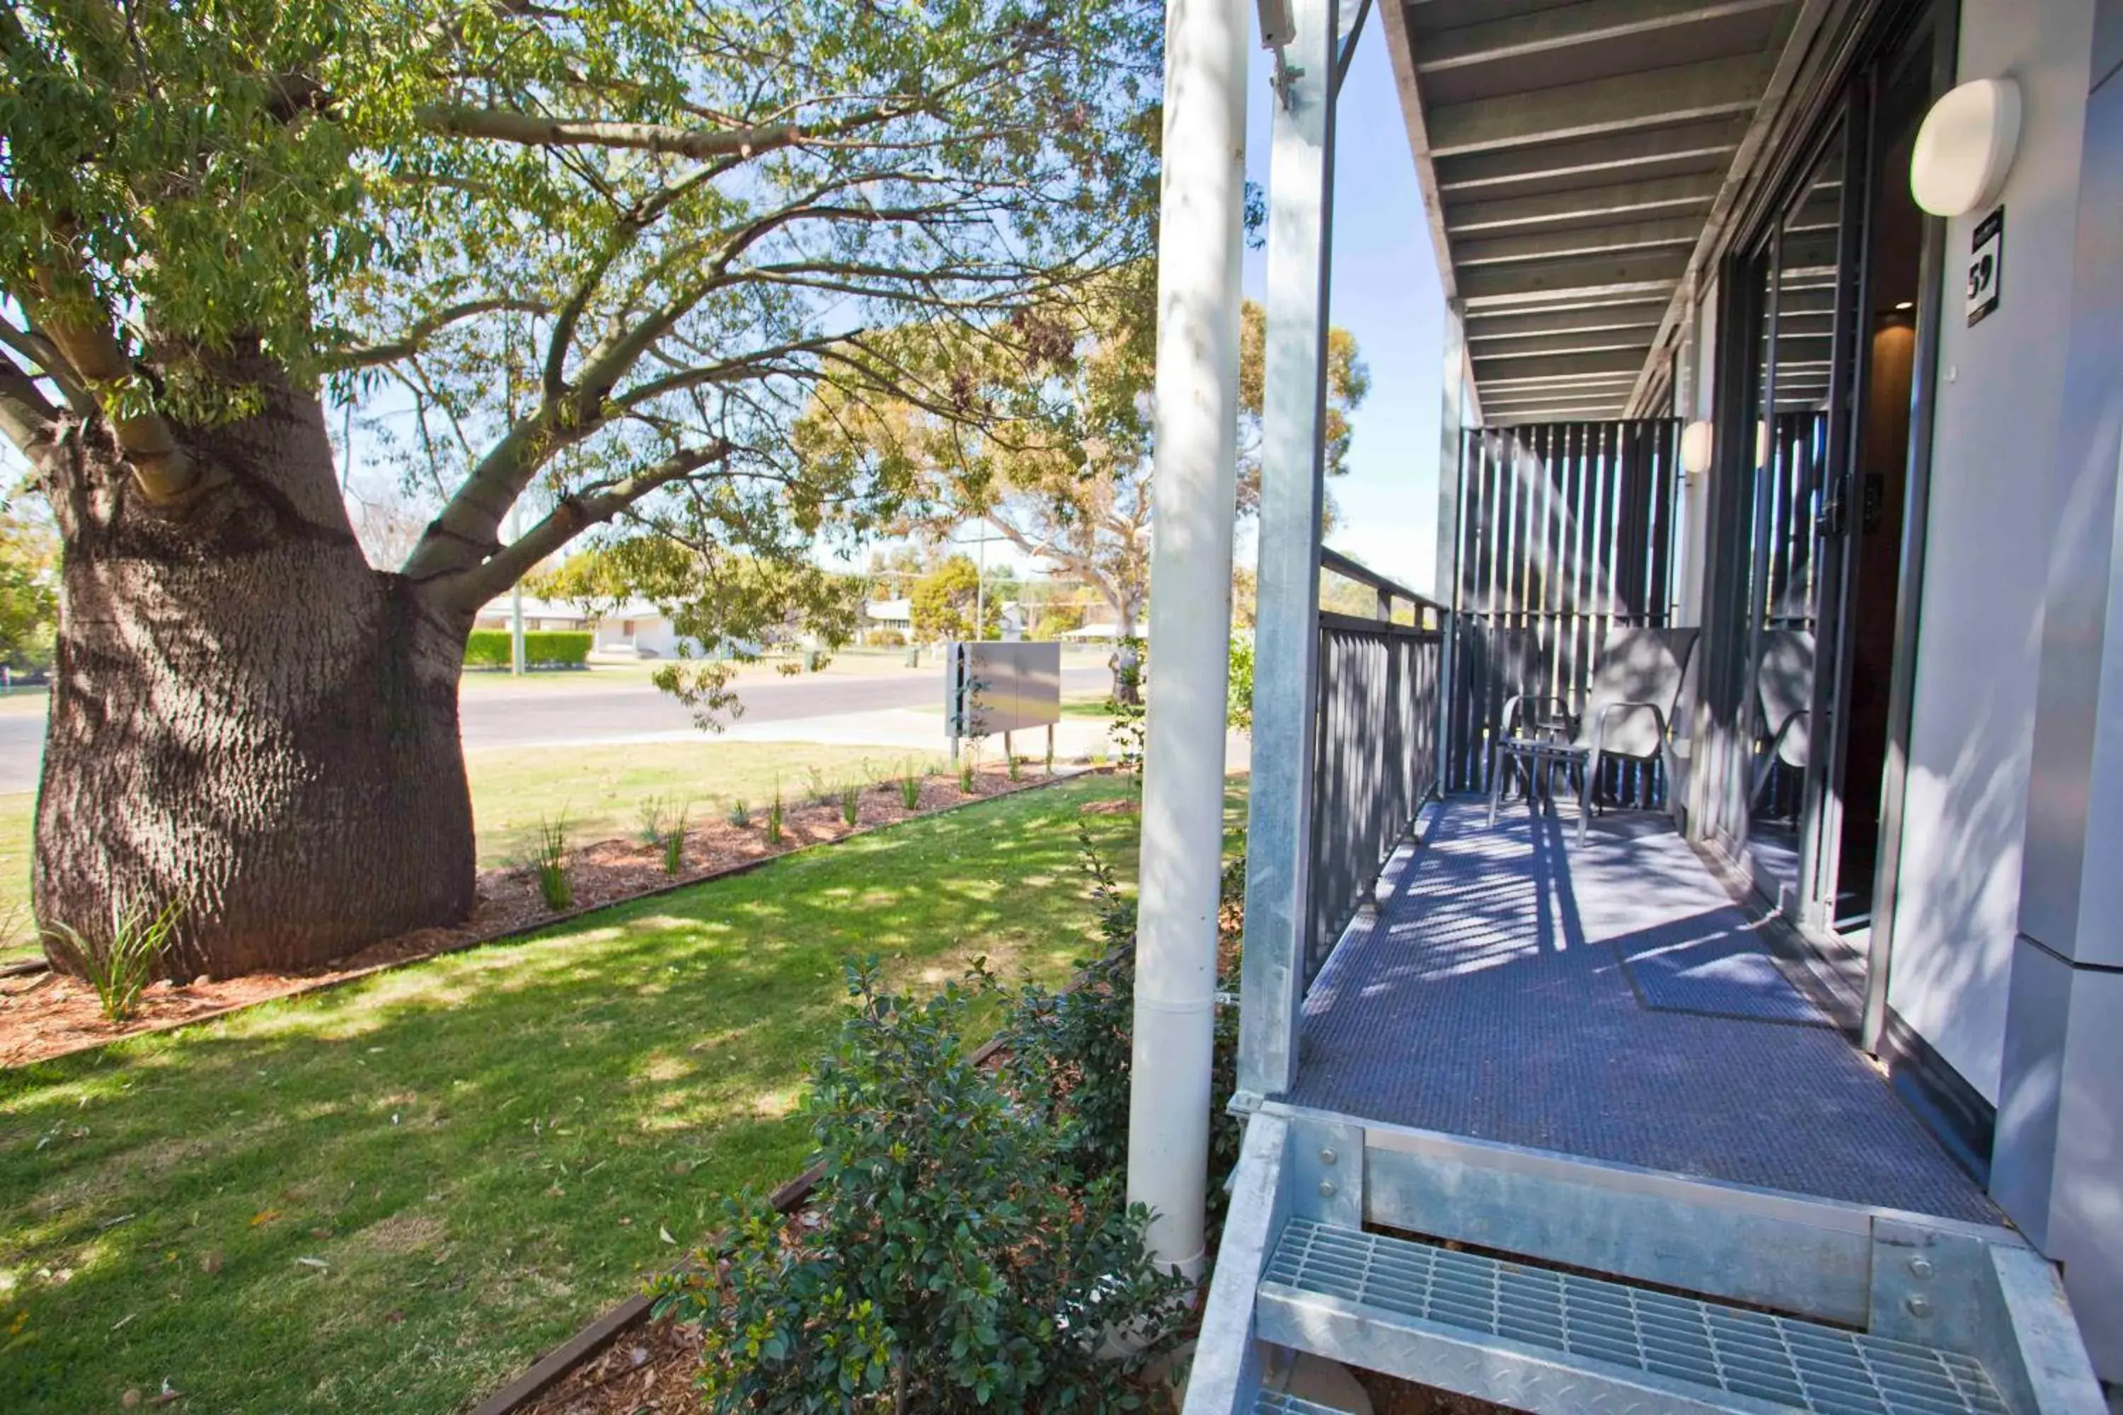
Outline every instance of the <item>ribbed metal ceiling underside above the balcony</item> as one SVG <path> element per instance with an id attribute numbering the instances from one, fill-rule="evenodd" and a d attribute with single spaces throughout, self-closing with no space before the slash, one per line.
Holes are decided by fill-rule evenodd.
<path id="1" fill-rule="evenodd" d="M 1486 422 L 1626 416 L 1798 11 L 1403 6 L 1397 68 Z"/>

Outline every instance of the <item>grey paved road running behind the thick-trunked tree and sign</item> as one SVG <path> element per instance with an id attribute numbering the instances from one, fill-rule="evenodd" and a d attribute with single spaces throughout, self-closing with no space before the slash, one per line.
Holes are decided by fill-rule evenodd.
<path id="1" fill-rule="evenodd" d="M 1089 696 L 1110 675 L 1102 666 L 1062 670 L 1064 696 Z M 943 677 L 934 668 L 917 672 L 822 675 L 798 679 L 752 679 L 737 692 L 745 704 L 745 726 L 813 717 L 847 717 L 890 709 L 943 706 Z M 461 704 L 465 747 L 522 747 L 556 743 L 609 743 L 694 732 L 684 704 L 656 692 L 643 679 L 611 687 L 539 683 L 535 687 L 476 687 Z M 36 764 L 45 747 L 42 713 L 0 715 L 0 791 L 36 789 Z"/>

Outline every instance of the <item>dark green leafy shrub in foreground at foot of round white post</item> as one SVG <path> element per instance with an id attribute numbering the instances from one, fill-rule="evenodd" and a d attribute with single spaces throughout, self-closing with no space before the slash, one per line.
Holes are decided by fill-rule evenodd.
<path id="1" fill-rule="evenodd" d="M 1183 1286 L 1144 1245 L 1121 1177 L 1081 1182 L 1064 1131 L 972 1063 L 985 972 L 926 1003 L 849 965 L 851 1006 L 805 1099 L 822 1160 L 811 1222 L 762 1199 L 658 1279 L 703 1328 L 701 1390 L 737 1411 L 1132 1411 Z M 1100 1351 L 1125 1328 L 1132 1356 Z"/>

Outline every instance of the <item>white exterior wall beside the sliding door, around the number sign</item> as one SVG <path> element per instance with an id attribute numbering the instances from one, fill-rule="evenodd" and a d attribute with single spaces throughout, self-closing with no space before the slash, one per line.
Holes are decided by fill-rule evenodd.
<path id="1" fill-rule="evenodd" d="M 1889 1006 L 1998 1099 L 2042 651 L 2093 0 L 1962 0 L 1957 78 L 2025 102 L 2006 180 L 2002 305 L 1968 327 L 1947 231 L 1923 609 Z"/>

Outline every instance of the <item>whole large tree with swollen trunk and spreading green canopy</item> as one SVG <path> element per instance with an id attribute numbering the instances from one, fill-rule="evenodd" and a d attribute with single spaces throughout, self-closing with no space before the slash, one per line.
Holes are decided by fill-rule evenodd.
<path id="1" fill-rule="evenodd" d="M 0 431 L 64 545 L 38 916 L 178 902 L 166 969 L 214 974 L 465 916 L 478 607 L 614 518 L 792 562 L 898 516 L 902 469 L 802 456 L 796 414 L 964 414 L 904 331 L 1008 344 L 1140 257 L 1155 19 L 17 0 Z M 442 507 L 393 571 L 348 403 Z"/>

